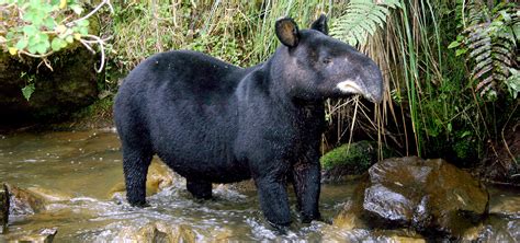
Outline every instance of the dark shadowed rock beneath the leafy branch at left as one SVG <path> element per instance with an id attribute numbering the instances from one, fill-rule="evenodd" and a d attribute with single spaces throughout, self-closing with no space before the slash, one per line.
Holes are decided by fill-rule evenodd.
<path id="1" fill-rule="evenodd" d="M 81 45 L 48 57 L 54 71 L 39 59 L 0 53 L 0 125 L 23 126 L 57 119 L 98 99 L 98 57 Z M 21 89 L 35 84 L 30 101 Z"/>

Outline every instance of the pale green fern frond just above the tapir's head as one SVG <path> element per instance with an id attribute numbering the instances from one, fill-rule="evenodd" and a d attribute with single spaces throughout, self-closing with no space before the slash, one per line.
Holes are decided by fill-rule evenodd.
<path id="1" fill-rule="evenodd" d="M 352 0 L 347 11 L 330 28 L 331 36 L 354 46 L 364 44 L 369 35 L 386 23 L 388 9 L 402 8 L 399 0 L 384 0 L 375 3 L 373 0 Z"/>

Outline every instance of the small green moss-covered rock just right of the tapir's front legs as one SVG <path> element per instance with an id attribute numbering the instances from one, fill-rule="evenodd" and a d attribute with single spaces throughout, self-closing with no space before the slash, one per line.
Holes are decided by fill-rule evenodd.
<path id="1" fill-rule="evenodd" d="M 319 161 L 324 172 L 324 181 L 340 181 L 344 175 L 360 175 L 377 162 L 377 142 L 358 141 L 342 144 L 323 155 Z M 393 157 L 395 153 L 383 148 L 383 158 Z"/>

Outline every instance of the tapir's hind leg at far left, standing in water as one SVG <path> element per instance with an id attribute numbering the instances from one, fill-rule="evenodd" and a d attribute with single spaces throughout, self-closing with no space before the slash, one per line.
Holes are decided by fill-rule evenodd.
<path id="1" fill-rule="evenodd" d="M 146 206 L 146 175 L 152 152 L 146 147 L 123 147 L 126 198 L 133 206 Z"/>

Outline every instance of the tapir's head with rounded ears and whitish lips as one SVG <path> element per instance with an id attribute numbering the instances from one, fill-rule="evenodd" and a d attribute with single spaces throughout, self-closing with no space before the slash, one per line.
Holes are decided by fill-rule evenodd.
<path id="1" fill-rule="evenodd" d="M 298 30 L 290 18 L 280 19 L 275 32 L 283 46 L 273 57 L 273 74 L 281 76 L 291 96 L 324 100 L 362 94 L 373 102 L 382 100 L 380 68 L 352 46 L 328 36 L 325 15 L 309 30 Z"/>

